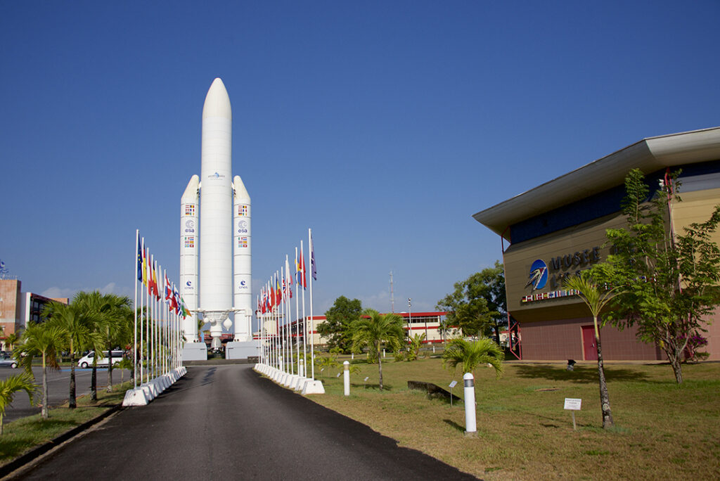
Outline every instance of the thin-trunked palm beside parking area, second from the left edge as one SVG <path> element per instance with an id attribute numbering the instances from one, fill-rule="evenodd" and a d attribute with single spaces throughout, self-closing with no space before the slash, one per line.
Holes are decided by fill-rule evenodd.
<path id="1" fill-rule="evenodd" d="M 28 324 L 20 338 L 20 345 L 15 349 L 15 356 L 25 370 L 32 374 L 32 359 L 42 357 L 42 414 L 48 419 L 48 367 L 58 369 L 58 351 L 62 349 L 65 336 L 63 331 L 47 323 Z"/>

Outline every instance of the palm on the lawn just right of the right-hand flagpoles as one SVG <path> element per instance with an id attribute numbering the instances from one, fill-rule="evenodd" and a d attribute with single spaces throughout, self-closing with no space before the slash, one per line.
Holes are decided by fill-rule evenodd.
<path id="1" fill-rule="evenodd" d="M 397 314 L 382 315 L 374 309 L 363 311 L 361 318 L 351 324 L 352 349 L 359 351 L 368 346 L 371 353 L 377 355 L 379 386 L 382 391 L 382 348 L 389 346 L 392 351 L 399 349 L 405 332 L 402 331 L 402 318 Z"/>

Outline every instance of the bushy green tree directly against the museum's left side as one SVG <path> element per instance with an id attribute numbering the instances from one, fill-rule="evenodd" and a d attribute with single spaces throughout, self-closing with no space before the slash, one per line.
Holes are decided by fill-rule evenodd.
<path id="1" fill-rule="evenodd" d="M 505 313 L 505 272 L 503 264 L 482 269 L 464 281 L 454 284 L 454 291 L 439 300 L 436 309 L 448 314 L 448 325 L 457 325 L 464 336 L 495 335 L 500 343 L 500 329 L 507 325 Z"/>

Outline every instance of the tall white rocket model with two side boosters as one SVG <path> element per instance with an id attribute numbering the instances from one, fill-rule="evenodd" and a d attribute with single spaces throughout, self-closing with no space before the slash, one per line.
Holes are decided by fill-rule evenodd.
<path id="1" fill-rule="evenodd" d="M 210 323 L 213 349 L 221 346 L 222 326 L 232 326 L 228 315 L 233 312 L 234 340 L 252 340 L 250 196 L 239 176 L 235 176 L 235 185 L 230 182 L 232 126 L 228 91 L 222 80 L 215 78 L 202 107 L 200 177 L 192 176 L 181 199 L 180 262 L 181 295 L 194 311 L 192 318 L 185 320 L 186 341 L 197 340 L 195 312 L 201 313 L 204 322 Z M 192 241 L 186 232 L 191 221 Z"/>

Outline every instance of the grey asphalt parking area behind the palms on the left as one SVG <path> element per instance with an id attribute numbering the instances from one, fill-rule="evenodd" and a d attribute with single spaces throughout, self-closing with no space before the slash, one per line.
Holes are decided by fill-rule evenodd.
<path id="1" fill-rule="evenodd" d="M 0 380 L 7 379 L 10 376 L 19 374 L 22 369 L 0 369 Z M 75 369 L 75 393 L 76 396 L 83 394 L 90 394 L 90 377 L 92 369 L 82 369 L 76 367 Z M 38 403 L 42 400 L 42 367 L 33 367 L 32 374 L 35 376 L 37 381 L 38 391 L 35 398 Z M 130 371 L 125 371 L 122 374 L 123 379 L 127 381 L 130 378 Z M 120 382 L 120 369 L 112 370 L 112 382 L 117 384 Z M 98 389 L 102 389 L 107 386 L 107 368 L 97 369 L 97 385 Z M 57 406 L 66 403 L 68 396 L 70 395 L 70 368 L 63 367 L 60 371 L 53 371 L 48 369 L 48 403 L 50 406 Z M 40 407 L 30 405 L 30 400 L 25 392 L 17 392 L 12 401 L 12 404 L 5 411 L 4 422 L 12 422 L 18 418 L 24 418 L 25 416 L 39 414 Z"/>

